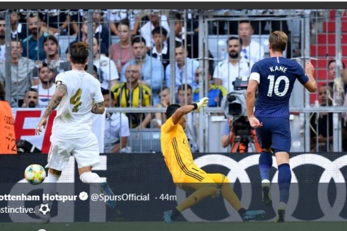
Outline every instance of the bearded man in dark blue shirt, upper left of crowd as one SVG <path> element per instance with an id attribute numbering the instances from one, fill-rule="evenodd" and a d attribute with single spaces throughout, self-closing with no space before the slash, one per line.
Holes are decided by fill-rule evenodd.
<path id="1" fill-rule="evenodd" d="M 32 60 L 46 59 L 46 54 L 43 50 L 43 40 L 48 34 L 41 29 L 41 26 L 42 22 L 39 14 L 30 14 L 28 17 L 28 29 L 31 35 L 26 37 L 22 42 L 23 57 L 28 57 Z M 38 45 L 39 47 L 37 47 Z"/>

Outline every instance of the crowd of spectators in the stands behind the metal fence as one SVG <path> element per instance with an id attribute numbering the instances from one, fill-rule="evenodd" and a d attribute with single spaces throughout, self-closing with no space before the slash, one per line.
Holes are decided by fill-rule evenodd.
<path id="1" fill-rule="evenodd" d="M 87 14 L 83 10 L 11 11 L 10 82 L 6 82 L 9 78 L 5 74 L 5 19 L 4 14 L 0 14 L 0 82 L 11 85 L 11 107 L 46 107 L 55 91 L 55 78 L 71 69 L 69 47 L 78 41 L 88 43 L 89 36 L 93 36 L 93 42 L 89 44 L 94 55 L 93 76 L 101 82 L 108 107 L 167 107 L 170 93 L 175 94 L 176 101 L 181 105 L 190 104 L 199 98 L 199 90 L 203 90 L 199 89 L 201 75 L 207 81 L 204 85 L 207 86 L 208 106 L 221 106 L 222 98 L 234 90 L 233 81 L 236 78 L 247 81 L 252 65 L 267 55 L 264 46 L 251 39 L 255 30 L 262 27 L 258 24 L 254 26 L 257 21 L 240 20 L 236 26 L 228 28 L 230 35 L 237 35 L 230 36 L 226 41 L 228 57 L 215 62 L 209 52 L 209 68 L 204 73 L 199 67 L 199 28 L 194 14 L 175 13 L 174 38 L 170 37 L 168 15 L 160 11 L 94 10 L 92 22 L 88 22 Z M 190 19 L 186 28 L 184 17 Z M 88 34 L 90 25 L 93 34 Z M 283 29 L 289 32 L 286 21 L 284 25 Z M 277 25 L 278 28 L 275 23 L 273 26 L 274 30 L 282 28 L 282 24 Z M 260 30 L 256 33 L 266 32 Z M 60 36 L 73 38 L 66 51 L 60 50 Z M 117 42 L 113 43 L 112 38 L 116 38 Z M 172 44 L 175 58 L 170 63 Z M 62 52 L 66 58 L 61 58 Z M 287 56 L 290 53 L 289 49 Z M 174 77 L 171 76 L 171 64 L 175 66 Z M 333 79 L 336 72 L 334 60 L 330 61 L 328 70 Z M 173 79 L 174 83 L 171 82 Z M 343 80 L 347 92 L 347 71 L 343 72 Z M 332 87 L 333 81 L 319 88 L 321 105 L 332 105 Z M 344 105 L 347 106 L 347 94 L 344 97 Z M 330 114 L 312 115 L 312 150 L 317 140 L 321 144 L 330 143 L 332 147 L 332 129 L 327 131 L 326 128 L 332 123 Z M 121 151 L 126 145 L 129 128 L 160 128 L 166 121 L 164 113 L 125 115 L 106 115 L 105 151 Z M 186 133 L 193 152 L 199 151 L 197 121 L 194 113 L 189 114 Z M 125 126 L 126 123 L 128 126 Z M 232 143 L 234 133 L 230 121 L 226 121 L 225 127 L 223 135 L 226 137 L 222 145 L 226 147 Z M 318 133 L 313 129 L 316 127 L 319 127 Z M 329 127 L 332 128 L 332 125 L 329 124 Z M 345 129 L 343 137 L 346 139 Z M 344 149 L 346 151 L 347 147 Z M 319 151 L 329 150 L 325 147 Z"/>

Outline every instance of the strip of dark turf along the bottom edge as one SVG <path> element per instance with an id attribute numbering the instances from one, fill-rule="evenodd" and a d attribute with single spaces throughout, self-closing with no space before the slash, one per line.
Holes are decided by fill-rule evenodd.
<path id="1" fill-rule="evenodd" d="M 346 231 L 347 222 L 109 222 L 109 223 L 0 223 L 0 231 Z"/>

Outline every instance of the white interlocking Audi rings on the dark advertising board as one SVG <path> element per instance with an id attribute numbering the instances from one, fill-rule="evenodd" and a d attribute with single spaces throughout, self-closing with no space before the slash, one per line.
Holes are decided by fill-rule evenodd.
<path id="1" fill-rule="evenodd" d="M 215 164 L 215 165 L 221 165 L 230 169 L 229 173 L 227 174 L 230 182 L 235 182 L 236 179 L 238 179 L 241 183 L 241 191 L 247 192 L 247 193 L 242 193 L 240 201 L 244 208 L 248 208 L 252 199 L 252 195 L 253 194 L 261 195 L 260 187 L 259 187 L 259 190 L 253 189 L 252 191 L 252 187 L 250 184 L 251 180 L 246 172 L 247 168 L 254 165 L 258 165 L 258 159 L 259 159 L 259 154 L 246 156 L 239 161 L 236 161 L 232 159 L 231 157 L 228 157 L 223 154 L 208 154 L 208 155 L 203 155 L 201 157 L 196 158 L 194 162 L 200 168 L 203 168 L 204 166 L 207 166 L 207 165 Z M 341 217 L 340 214 L 342 210 L 344 209 L 344 206 L 346 203 L 346 180 L 344 178 L 343 173 L 341 172 L 341 168 L 347 165 L 347 155 L 343 155 L 332 161 L 318 154 L 299 154 L 299 155 L 291 157 L 289 163 L 291 168 L 290 192 L 295 190 L 298 193 L 289 193 L 288 207 L 286 209 L 286 221 L 301 221 L 300 219 L 295 218 L 293 216 L 294 210 L 298 206 L 300 188 L 298 187 L 298 184 L 297 184 L 298 180 L 295 176 L 295 173 L 292 171 L 292 169 L 301 165 L 305 165 L 305 164 L 316 165 L 324 169 L 318 182 L 318 190 L 317 190 L 318 195 L 315 195 L 318 198 L 318 203 L 319 203 L 318 206 L 320 207 L 321 212 L 323 213 L 323 216 L 321 216 L 319 219 L 312 220 L 312 221 L 318 221 L 318 220 L 319 221 L 346 221 L 346 218 Z M 273 167 L 277 169 L 275 156 L 273 156 Z M 308 174 L 307 177 L 311 177 L 309 175 L 310 174 L 309 172 L 307 174 Z M 316 173 L 312 173 L 312 174 L 316 174 Z M 317 176 L 315 175 L 315 177 Z M 331 180 L 335 182 L 335 186 L 336 186 L 336 198 L 332 205 L 329 203 L 329 198 L 328 198 L 328 185 L 329 185 L 329 182 L 331 182 Z M 276 171 L 275 175 L 271 179 L 271 182 L 278 183 L 278 171 Z M 257 183 L 260 184 L 260 179 L 259 179 L 259 182 Z M 276 209 L 278 208 L 278 203 L 279 203 L 278 184 L 275 187 L 271 187 L 271 192 L 273 196 L 272 198 L 273 209 L 274 211 L 276 211 Z M 186 198 L 185 192 L 179 188 L 176 188 L 176 196 L 177 196 L 177 204 L 179 204 Z M 310 195 L 308 195 L 308 197 L 310 197 Z M 219 220 L 219 222 L 237 221 L 237 218 L 238 218 L 237 212 L 231 207 L 231 205 L 226 200 L 224 200 L 224 205 L 230 216 L 225 219 Z M 259 209 L 264 209 L 264 208 L 259 208 Z M 197 216 L 191 209 L 186 209 L 185 211 L 182 212 L 182 215 L 189 222 L 209 222 Z"/>

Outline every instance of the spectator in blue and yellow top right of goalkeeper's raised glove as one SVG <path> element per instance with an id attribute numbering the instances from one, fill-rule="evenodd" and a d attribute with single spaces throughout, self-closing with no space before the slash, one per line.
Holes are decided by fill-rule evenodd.
<path id="1" fill-rule="evenodd" d="M 200 69 L 196 69 L 195 81 L 199 84 Z M 205 75 L 203 75 L 205 76 Z M 204 77 L 205 78 L 205 77 Z M 221 106 L 221 101 L 224 96 L 227 95 L 227 89 L 222 85 L 211 84 L 212 75 L 208 73 L 207 79 L 207 92 L 208 92 L 208 107 L 219 107 Z M 199 97 L 199 87 L 193 90 L 193 101 L 196 102 L 200 99 Z"/>

